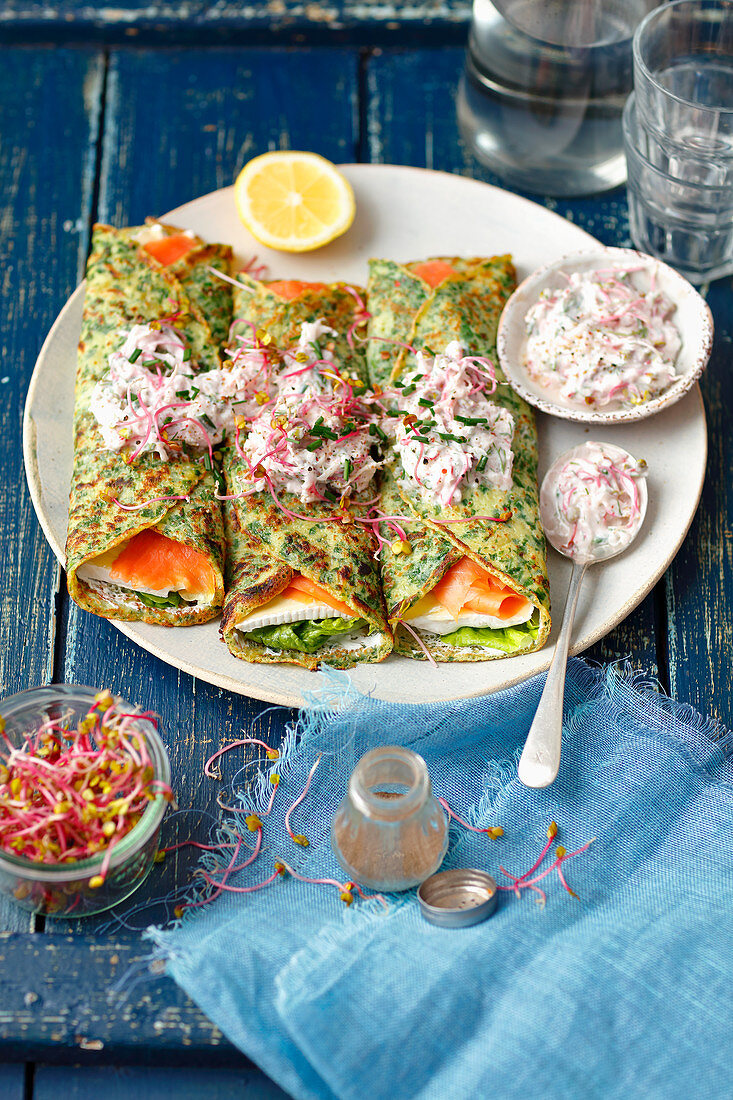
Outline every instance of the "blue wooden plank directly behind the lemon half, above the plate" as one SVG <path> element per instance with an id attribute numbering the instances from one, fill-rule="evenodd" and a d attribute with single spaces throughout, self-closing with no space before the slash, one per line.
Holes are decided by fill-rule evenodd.
<path id="1" fill-rule="evenodd" d="M 340 50 L 118 51 L 105 117 L 99 217 L 162 213 L 233 183 L 272 148 L 353 160 L 358 56 Z"/>

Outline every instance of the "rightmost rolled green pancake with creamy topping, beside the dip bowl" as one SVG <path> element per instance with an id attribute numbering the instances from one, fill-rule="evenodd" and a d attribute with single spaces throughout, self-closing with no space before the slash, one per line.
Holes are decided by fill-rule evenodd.
<path id="1" fill-rule="evenodd" d="M 397 297 L 384 305 L 391 284 Z M 534 417 L 495 366 L 513 286 L 507 256 L 371 265 L 370 328 L 417 352 L 385 345 L 372 367 L 379 386 L 389 366 L 394 387 L 380 506 L 408 518 L 382 526 L 382 583 L 407 656 L 490 660 L 549 634 Z"/>

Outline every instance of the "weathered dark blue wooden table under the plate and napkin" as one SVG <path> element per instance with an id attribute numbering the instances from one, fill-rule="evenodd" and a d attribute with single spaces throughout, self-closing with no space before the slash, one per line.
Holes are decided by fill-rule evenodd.
<path id="1" fill-rule="evenodd" d="M 23 474 L 21 418 L 43 339 L 79 282 L 94 221 L 134 223 L 230 184 L 273 148 L 492 179 L 462 147 L 453 96 L 468 3 L 131 3 L 6 0 L 0 12 L 0 692 L 103 684 L 163 719 L 180 812 L 164 839 L 204 838 L 218 806 L 203 762 L 264 710 L 178 673 L 69 602 Z M 546 206 L 628 244 L 623 190 Z M 733 294 L 708 292 L 710 462 L 689 536 L 656 590 L 590 656 L 630 656 L 663 688 L 731 719 Z M 271 713 L 275 738 L 288 712 Z M 190 849 L 188 849 L 190 851 Z M 283 1096 L 172 981 L 116 983 L 172 916 L 195 856 L 177 853 L 116 915 L 78 925 L 0 902 L 0 1098 Z M 166 902 L 156 901 L 167 897 Z M 78 1068 L 81 1067 L 81 1068 Z"/>

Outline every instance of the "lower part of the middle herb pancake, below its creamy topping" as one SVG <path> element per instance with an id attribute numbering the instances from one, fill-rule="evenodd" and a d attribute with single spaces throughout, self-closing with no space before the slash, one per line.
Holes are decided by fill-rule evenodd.
<path id="1" fill-rule="evenodd" d="M 223 468 L 228 492 L 238 497 L 251 482 L 233 448 L 225 450 Z M 289 493 L 278 499 L 282 507 L 270 494 L 254 493 L 225 505 L 221 636 L 230 652 L 245 661 L 307 669 L 383 660 L 392 650 L 392 631 L 373 537 L 352 518 L 360 509 L 304 505 Z M 300 518 L 310 512 L 313 519 Z"/>

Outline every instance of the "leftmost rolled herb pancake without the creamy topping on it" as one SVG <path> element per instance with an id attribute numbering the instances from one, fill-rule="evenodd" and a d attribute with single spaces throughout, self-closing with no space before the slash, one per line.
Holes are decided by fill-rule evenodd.
<path id="1" fill-rule="evenodd" d="M 157 333 L 162 340 L 175 326 L 179 336 L 171 340 L 182 360 L 199 372 L 220 365 L 212 329 L 220 336 L 228 324 L 231 290 L 207 268 L 227 270 L 230 255 L 226 245 L 157 223 L 95 227 L 77 362 L 66 569 L 72 597 L 96 615 L 184 626 L 221 607 L 223 524 L 208 453 L 201 459 L 169 443 L 160 425 L 165 458 L 110 447 L 92 404 L 110 355 L 121 353 L 133 329 L 144 330 L 154 348 Z M 139 358 L 140 350 L 129 352 L 127 365 Z M 164 360 L 161 352 L 161 370 Z M 150 435 L 155 417 L 147 420 Z"/>

